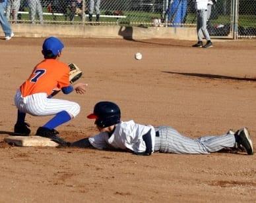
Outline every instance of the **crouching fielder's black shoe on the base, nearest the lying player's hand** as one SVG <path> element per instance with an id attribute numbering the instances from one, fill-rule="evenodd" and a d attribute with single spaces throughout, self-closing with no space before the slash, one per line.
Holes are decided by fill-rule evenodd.
<path id="1" fill-rule="evenodd" d="M 36 131 L 36 135 L 40 137 L 48 137 L 51 139 L 51 141 L 54 141 L 55 143 L 58 143 L 61 146 L 66 146 L 67 143 L 64 139 L 61 137 L 57 136 L 59 132 L 55 129 L 48 129 L 46 127 L 38 127 L 38 130 Z"/>

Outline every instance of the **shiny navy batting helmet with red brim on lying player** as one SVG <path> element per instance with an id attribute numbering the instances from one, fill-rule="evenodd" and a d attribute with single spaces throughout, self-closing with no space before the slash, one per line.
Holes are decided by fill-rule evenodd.
<path id="1" fill-rule="evenodd" d="M 87 118 L 96 119 L 95 124 L 99 127 L 109 127 L 118 124 L 121 118 L 121 111 L 117 104 L 110 101 L 101 101 L 95 104 L 93 113 Z"/>

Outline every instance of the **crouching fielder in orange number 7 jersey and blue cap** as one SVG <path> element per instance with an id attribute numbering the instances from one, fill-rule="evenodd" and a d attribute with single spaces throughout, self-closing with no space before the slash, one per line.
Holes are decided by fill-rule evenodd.
<path id="1" fill-rule="evenodd" d="M 55 127 L 69 122 L 80 112 L 76 102 L 62 99 L 52 99 L 53 92 L 61 90 L 64 94 L 71 93 L 74 89 L 79 94 L 84 94 L 86 84 L 69 82 L 69 66 L 61 61 L 63 43 L 56 37 L 48 37 L 42 46 L 44 60 L 36 65 L 32 74 L 16 91 L 15 105 L 18 108 L 18 118 L 15 124 L 15 135 L 28 136 L 30 125 L 25 122 L 26 113 L 32 116 L 55 115 L 49 122 L 36 131 L 36 135 L 49 137 L 57 143 L 65 141 L 57 136 Z"/>

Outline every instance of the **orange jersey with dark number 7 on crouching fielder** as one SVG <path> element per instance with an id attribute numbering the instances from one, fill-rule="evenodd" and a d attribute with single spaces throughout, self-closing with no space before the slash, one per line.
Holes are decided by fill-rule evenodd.
<path id="1" fill-rule="evenodd" d="M 69 85 L 69 66 L 51 58 L 36 65 L 30 77 L 20 86 L 20 91 L 22 97 L 35 93 L 51 95 L 56 87 L 61 89 Z"/>

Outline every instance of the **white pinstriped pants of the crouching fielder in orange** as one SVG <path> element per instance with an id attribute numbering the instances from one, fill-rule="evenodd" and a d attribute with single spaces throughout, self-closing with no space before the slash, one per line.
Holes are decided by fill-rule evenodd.
<path id="1" fill-rule="evenodd" d="M 75 118 L 80 112 L 80 106 L 76 102 L 48 99 L 46 93 L 36 93 L 22 97 L 19 89 L 15 95 L 15 105 L 18 110 L 32 116 L 51 116 L 65 110 Z"/>

